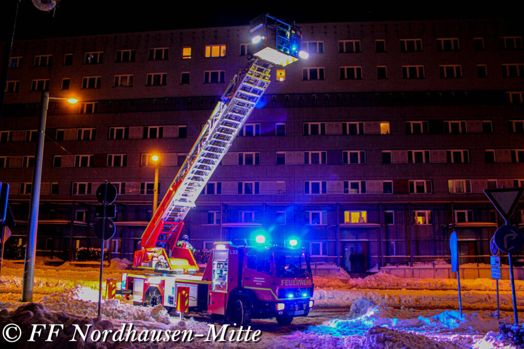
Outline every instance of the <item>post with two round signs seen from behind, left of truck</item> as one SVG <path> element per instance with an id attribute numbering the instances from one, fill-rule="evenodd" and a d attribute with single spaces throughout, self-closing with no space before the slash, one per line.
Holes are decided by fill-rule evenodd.
<path id="1" fill-rule="evenodd" d="M 116 187 L 105 181 L 96 189 L 96 199 L 102 204 L 102 218 L 97 220 L 94 229 L 95 236 L 101 240 L 100 247 L 100 279 L 99 279 L 99 304 L 98 304 L 98 317 L 100 318 L 100 308 L 102 304 L 102 273 L 104 271 L 104 249 L 105 240 L 109 240 L 113 237 L 116 228 L 115 223 L 111 218 L 107 218 L 106 207 L 112 204 L 116 199 Z"/>

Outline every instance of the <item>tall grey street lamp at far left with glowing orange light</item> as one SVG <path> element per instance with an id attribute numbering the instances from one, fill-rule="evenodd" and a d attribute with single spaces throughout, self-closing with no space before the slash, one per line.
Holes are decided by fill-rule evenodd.
<path id="1" fill-rule="evenodd" d="M 22 301 L 31 302 L 33 295 L 33 279 L 35 277 L 36 234 L 38 228 L 38 206 L 40 204 L 40 184 L 42 179 L 43 140 L 46 130 L 47 108 L 49 99 L 67 100 L 77 103 L 78 99 L 65 97 L 50 97 L 49 92 L 42 91 L 40 99 L 40 121 L 38 124 L 38 140 L 35 153 L 35 168 L 31 188 L 31 202 L 29 206 L 29 223 L 27 227 L 26 259 L 24 263 L 24 279 L 22 288 Z"/>

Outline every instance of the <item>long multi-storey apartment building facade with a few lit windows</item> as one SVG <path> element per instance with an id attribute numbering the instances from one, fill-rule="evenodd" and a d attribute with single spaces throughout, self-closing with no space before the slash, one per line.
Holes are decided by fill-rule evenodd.
<path id="1" fill-rule="evenodd" d="M 213 241 L 297 237 L 358 269 L 485 261 L 498 217 L 485 188 L 524 185 L 522 28 L 504 20 L 301 24 L 310 53 L 272 82 L 185 221 Z M 132 258 L 159 200 L 253 47 L 247 27 L 16 41 L 0 121 L 0 181 L 23 244 L 39 99 L 51 101 L 37 250 L 97 247 L 94 191 L 118 188 L 114 257 Z M 515 222 L 524 222 L 519 207 Z M 354 253 L 353 253 L 354 252 Z"/>

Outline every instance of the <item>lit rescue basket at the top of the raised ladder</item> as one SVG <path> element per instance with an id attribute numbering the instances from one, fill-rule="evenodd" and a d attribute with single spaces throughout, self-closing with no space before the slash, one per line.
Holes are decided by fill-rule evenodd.
<path id="1" fill-rule="evenodd" d="M 261 15 L 250 22 L 254 43 L 258 46 L 254 55 L 261 59 L 286 66 L 298 61 L 302 32 L 297 26 L 282 22 L 270 15 Z"/>

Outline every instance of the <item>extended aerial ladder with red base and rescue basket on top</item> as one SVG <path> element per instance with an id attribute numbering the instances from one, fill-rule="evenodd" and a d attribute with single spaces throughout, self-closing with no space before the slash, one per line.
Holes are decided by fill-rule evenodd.
<path id="1" fill-rule="evenodd" d="M 270 15 L 257 17 L 250 27 L 254 43 L 258 43 L 256 53 L 232 78 L 154 212 L 142 235 L 141 249 L 135 251 L 135 267 L 159 269 L 163 273 L 199 270 L 191 251 L 176 246 L 183 219 L 195 207 L 202 189 L 266 91 L 271 68 L 275 64 L 285 66 L 299 57 L 298 27 Z"/>

